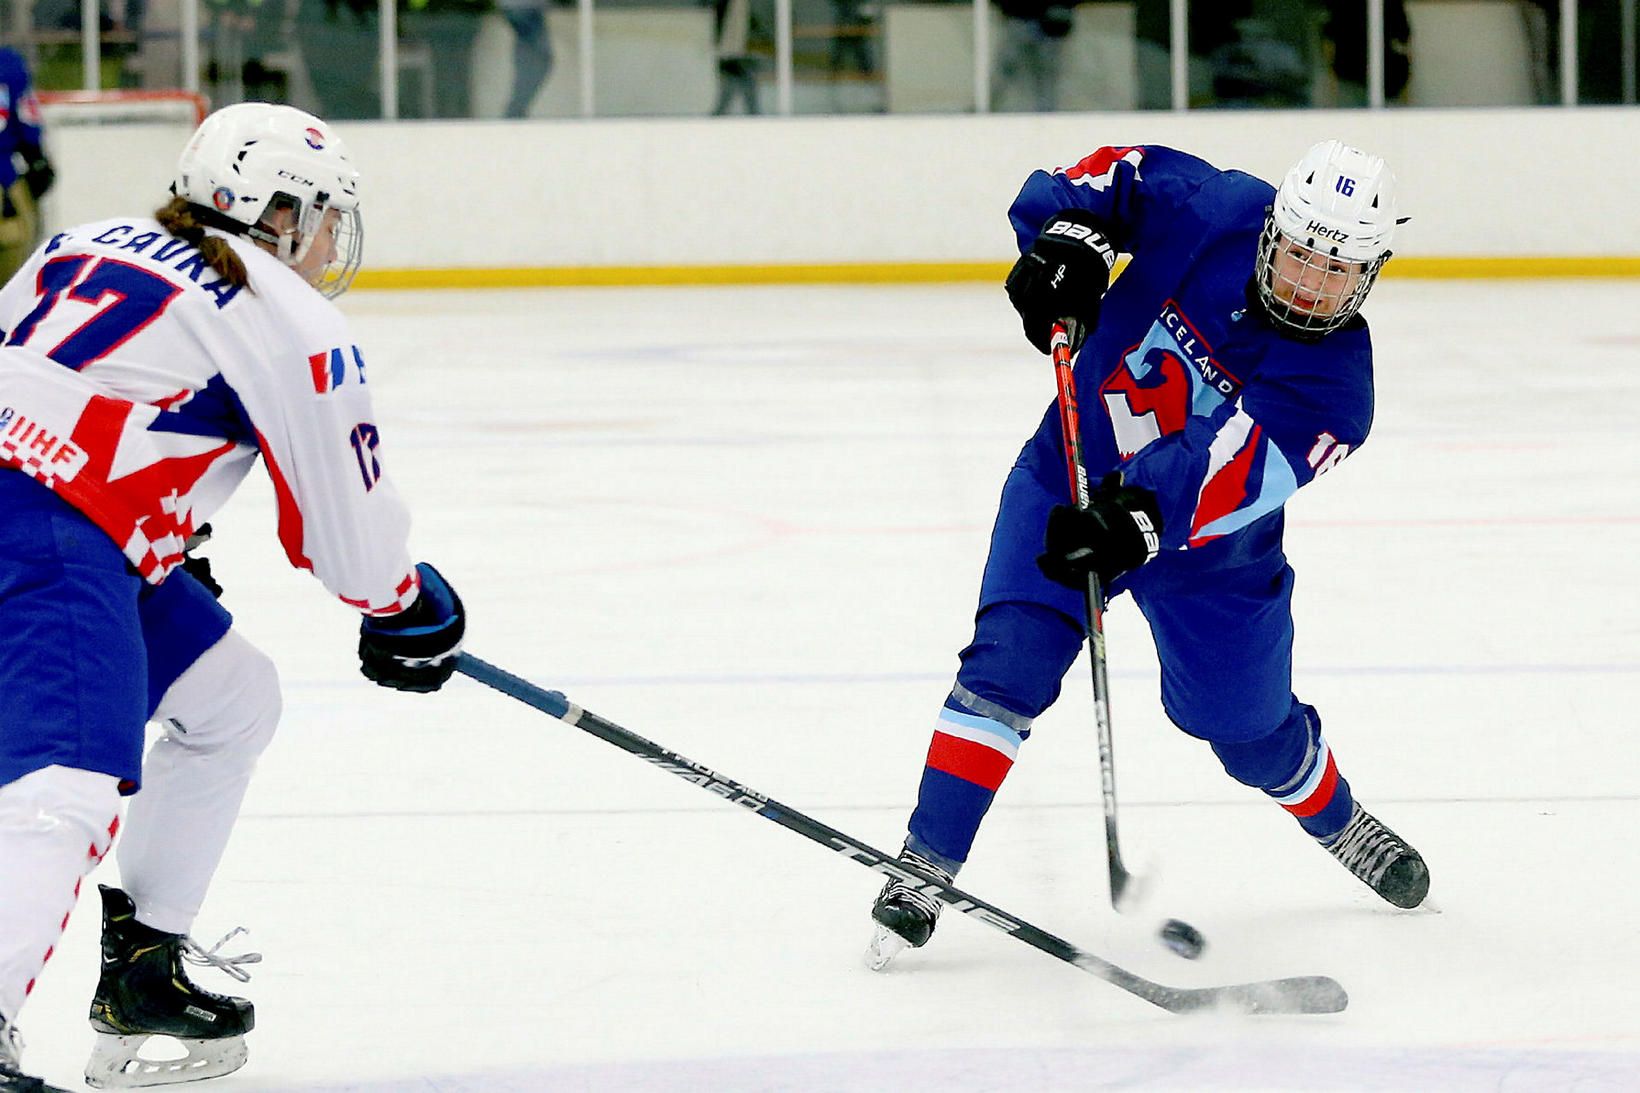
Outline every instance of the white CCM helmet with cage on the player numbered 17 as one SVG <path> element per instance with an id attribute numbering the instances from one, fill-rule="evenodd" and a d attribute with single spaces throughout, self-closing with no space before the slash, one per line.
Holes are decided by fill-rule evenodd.
<path id="1" fill-rule="evenodd" d="M 335 212 L 335 251 L 323 268 L 303 276 L 323 295 L 336 297 L 359 271 L 359 172 L 341 138 L 295 107 L 241 102 L 216 110 L 189 138 L 171 189 L 207 210 L 203 223 L 272 245 L 279 261 L 298 272 Z M 276 223 L 280 212 L 290 215 Z"/>

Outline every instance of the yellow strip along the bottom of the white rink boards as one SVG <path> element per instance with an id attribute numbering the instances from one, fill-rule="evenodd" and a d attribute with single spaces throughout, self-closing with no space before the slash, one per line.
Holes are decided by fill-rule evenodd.
<path id="1" fill-rule="evenodd" d="M 551 289 L 712 284 L 1000 284 L 1007 263 L 835 263 L 813 266 L 540 266 L 366 269 L 359 289 Z M 1394 258 L 1384 277 L 1424 281 L 1640 277 L 1640 256 Z"/>

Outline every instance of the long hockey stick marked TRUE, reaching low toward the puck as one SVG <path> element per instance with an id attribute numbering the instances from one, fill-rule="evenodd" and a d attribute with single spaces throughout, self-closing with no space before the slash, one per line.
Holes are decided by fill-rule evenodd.
<path id="1" fill-rule="evenodd" d="M 623 752 L 631 752 L 638 758 L 646 763 L 653 763 L 669 775 L 677 775 L 684 781 L 690 781 L 707 793 L 713 793 L 725 801 L 756 812 L 763 819 L 774 821 L 781 827 L 797 832 L 804 839 L 817 842 L 828 850 L 835 850 L 836 853 L 841 853 L 843 857 L 858 862 L 876 873 L 887 873 L 889 876 L 920 885 L 923 894 L 950 904 L 951 909 L 961 911 L 968 917 L 977 919 L 986 926 L 1009 934 L 1010 937 L 1017 937 L 1050 957 L 1056 957 L 1081 968 L 1082 972 L 1087 972 L 1089 975 L 1096 975 L 1130 995 L 1143 998 L 1153 1006 L 1161 1006 L 1169 1013 L 1338 1013 L 1350 1003 L 1350 996 L 1345 995 L 1343 986 L 1340 986 L 1337 980 L 1327 978 L 1325 975 L 1199 988 L 1163 986 L 1161 983 L 1153 983 L 1125 968 L 1118 968 L 1102 957 L 1084 952 L 1023 919 L 1007 914 L 984 899 L 969 896 L 951 885 L 941 885 L 922 870 L 905 865 L 904 862 L 895 860 L 894 855 L 884 853 L 882 850 L 868 847 L 853 835 L 846 835 L 835 827 L 804 816 L 797 809 L 787 807 L 749 786 L 743 786 L 738 781 L 725 778 L 723 775 L 718 775 L 690 758 L 684 758 L 677 752 L 663 748 L 658 743 L 645 740 L 635 732 L 622 729 L 612 720 L 605 720 L 590 711 L 581 709 L 566 699 L 559 691 L 538 688 L 526 679 L 520 679 L 510 671 L 503 671 L 489 661 L 479 660 L 472 653 L 461 653 L 456 658 L 456 671 L 469 679 L 477 679 L 484 686 L 494 688 L 502 694 L 515 697 L 525 706 L 531 706 L 543 714 L 549 714 L 574 729 L 589 732 L 599 740 L 613 743 Z"/>

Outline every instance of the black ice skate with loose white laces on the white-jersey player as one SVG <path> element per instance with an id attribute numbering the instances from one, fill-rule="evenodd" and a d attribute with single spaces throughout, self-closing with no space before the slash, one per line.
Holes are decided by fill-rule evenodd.
<path id="1" fill-rule="evenodd" d="M 215 949 L 203 952 L 182 934 L 162 934 L 138 922 L 136 904 L 118 888 L 98 885 L 98 889 L 103 955 L 90 1013 L 97 1044 L 85 1063 L 85 1085 L 126 1090 L 216 1078 L 243 1067 L 244 1034 L 256 1027 L 251 1003 L 200 990 L 189 981 L 182 958 L 210 963 L 244 981 L 249 976 L 236 965 L 259 957 L 228 960 L 216 957 Z M 144 1059 L 143 1045 L 153 1036 L 175 1039 L 187 1054 Z"/>

